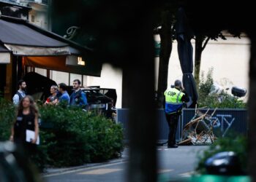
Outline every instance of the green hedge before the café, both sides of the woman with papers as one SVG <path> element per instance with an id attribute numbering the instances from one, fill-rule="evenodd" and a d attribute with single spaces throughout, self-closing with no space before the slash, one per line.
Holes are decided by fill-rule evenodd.
<path id="1" fill-rule="evenodd" d="M 0 106 L 0 141 L 6 141 L 15 108 L 3 99 Z M 75 166 L 121 157 L 124 138 L 120 124 L 80 108 L 39 106 L 39 113 L 40 145 L 37 156 L 32 157 L 39 169 L 45 165 Z"/>

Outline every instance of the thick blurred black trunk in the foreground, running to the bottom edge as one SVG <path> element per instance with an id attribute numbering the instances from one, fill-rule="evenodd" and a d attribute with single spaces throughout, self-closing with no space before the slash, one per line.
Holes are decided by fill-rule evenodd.
<path id="1" fill-rule="evenodd" d="M 149 56 L 148 56 L 149 57 Z M 157 181 L 156 122 L 154 108 L 154 62 L 143 59 L 124 68 L 129 87 L 129 172 L 128 181 Z"/>

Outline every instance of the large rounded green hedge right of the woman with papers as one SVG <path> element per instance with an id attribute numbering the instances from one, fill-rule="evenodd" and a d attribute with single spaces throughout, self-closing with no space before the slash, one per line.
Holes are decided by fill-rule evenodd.
<path id="1" fill-rule="evenodd" d="M 44 142 L 56 142 L 48 147 L 48 164 L 81 165 L 121 155 L 123 131 L 110 119 L 79 108 L 61 106 L 43 106 L 40 112 L 41 130 L 51 134 Z"/>

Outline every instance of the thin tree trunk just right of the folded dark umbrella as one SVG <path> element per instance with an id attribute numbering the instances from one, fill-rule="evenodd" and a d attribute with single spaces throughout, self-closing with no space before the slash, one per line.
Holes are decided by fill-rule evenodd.
<path id="1" fill-rule="evenodd" d="M 200 65 L 201 65 L 201 56 L 203 52 L 203 36 L 195 37 L 195 83 L 200 82 Z"/>

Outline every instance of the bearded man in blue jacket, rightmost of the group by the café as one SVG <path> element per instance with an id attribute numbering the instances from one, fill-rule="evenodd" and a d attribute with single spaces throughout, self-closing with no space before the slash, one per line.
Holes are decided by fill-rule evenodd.
<path id="1" fill-rule="evenodd" d="M 73 81 L 73 89 L 72 95 L 70 95 L 70 106 L 79 106 L 81 108 L 86 108 L 88 105 L 86 94 L 80 89 L 80 80 L 75 79 Z"/>

